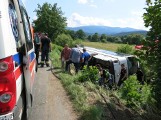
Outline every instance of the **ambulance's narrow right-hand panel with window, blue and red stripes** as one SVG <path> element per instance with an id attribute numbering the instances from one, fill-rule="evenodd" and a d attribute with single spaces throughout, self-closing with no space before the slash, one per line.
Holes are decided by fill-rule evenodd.
<path id="1" fill-rule="evenodd" d="M 17 0 L 15 0 L 17 1 Z M 23 54 L 23 73 L 24 73 L 24 86 L 26 93 L 26 107 L 27 113 L 32 106 L 32 86 L 35 76 L 36 56 L 34 53 L 34 46 L 32 41 L 32 35 L 30 30 L 30 22 L 27 12 L 21 0 L 18 0 L 21 21 L 20 32 L 21 41 L 23 43 L 20 52 Z"/>

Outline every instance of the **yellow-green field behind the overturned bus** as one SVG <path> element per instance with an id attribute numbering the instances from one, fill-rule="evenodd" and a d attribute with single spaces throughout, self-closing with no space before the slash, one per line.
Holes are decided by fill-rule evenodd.
<path id="1" fill-rule="evenodd" d="M 101 42 L 82 42 L 84 46 L 88 47 L 94 47 L 94 48 L 99 48 L 99 49 L 104 49 L 104 50 L 111 50 L 111 51 L 117 51 L 118 47 L 121 47 L 125 44 L 118 44 L 118 43 L 101 43 Z"/>

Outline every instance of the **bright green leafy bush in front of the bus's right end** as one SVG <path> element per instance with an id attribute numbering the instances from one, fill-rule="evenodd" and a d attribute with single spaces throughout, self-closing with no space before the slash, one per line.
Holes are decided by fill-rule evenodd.
<path id="1" fill-rule="evenodd" d="M 127 101 L 127 105 L 133 107 L 143 107 L 151 102 L 151 87 L 148 85 L 140 85 L 136 76 L 130 76 L 124 81 L 123 87 L 119 90 L 121 98 Z"/>

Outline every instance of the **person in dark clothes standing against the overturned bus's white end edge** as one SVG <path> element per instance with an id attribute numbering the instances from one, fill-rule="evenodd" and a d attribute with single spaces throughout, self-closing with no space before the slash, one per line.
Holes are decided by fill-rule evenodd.
<path id="1" fill-rule="evenodd" d="M 126 79 L 127 79 L 127 70 L 125 68 L 125 65 L 121 64 L 120 79 L 117 85 L 120 87 Z"/>

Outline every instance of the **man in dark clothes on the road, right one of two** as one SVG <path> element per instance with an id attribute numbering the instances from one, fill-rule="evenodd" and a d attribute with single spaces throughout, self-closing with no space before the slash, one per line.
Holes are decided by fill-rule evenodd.
<path id="1" fill-rule="evenodd" d="M 47 34 L 43 34 L 40 42 L 41 50 L 41 67 L 44 66 L 44 61 L 46 66 L 49 66 L 49 52 L 51 51 L 51 40 L 48 38 Z"/>

